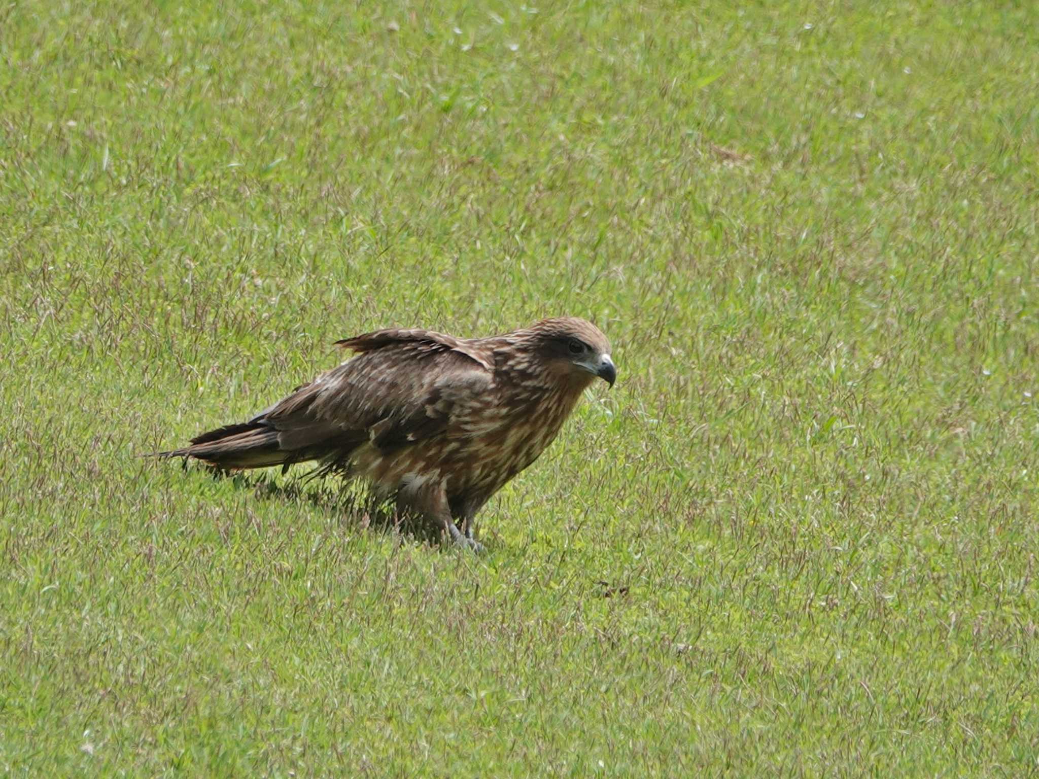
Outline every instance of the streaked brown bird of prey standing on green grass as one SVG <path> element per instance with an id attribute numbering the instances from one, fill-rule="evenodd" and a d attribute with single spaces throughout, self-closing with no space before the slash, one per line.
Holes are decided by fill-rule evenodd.
<path id="1" fill-rule="evenodd" d="M 398 511 L 479 548 L 477 511 L 538 458 L 595 377 L 617 377 L 606 335 L 574 317 L 483 339 L 390 329 L 336 343 L 356 356 L 248 422 L 157 456 L 224 469 L 317 460 L 318 474 L 365 479 Z"/>

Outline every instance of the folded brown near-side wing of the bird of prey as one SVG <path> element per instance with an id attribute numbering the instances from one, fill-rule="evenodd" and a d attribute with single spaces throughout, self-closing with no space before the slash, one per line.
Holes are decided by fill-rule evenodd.
<path id="1" fill-rule="evenodd" d="M 361 354 L 251 421 L 276 430 L 283 451 L 345 455 L 365 440 L 393 451 L 446 430 L 456 404 L 491 383 L 489 355 L 450 335 L 380 330 L 338 343 Z"/>

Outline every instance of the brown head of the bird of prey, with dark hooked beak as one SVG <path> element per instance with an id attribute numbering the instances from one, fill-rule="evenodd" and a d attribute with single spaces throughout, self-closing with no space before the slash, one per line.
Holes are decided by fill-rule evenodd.
<path id="1" fill-rule="evenodd" d="M 577 317 L 545 319 L 528 330 L 545 367 L 567 383 L 582 388 L 598 377 L 610 386 L 617 369 L 610 356 L 610 342 L 595 325 Z"/>

